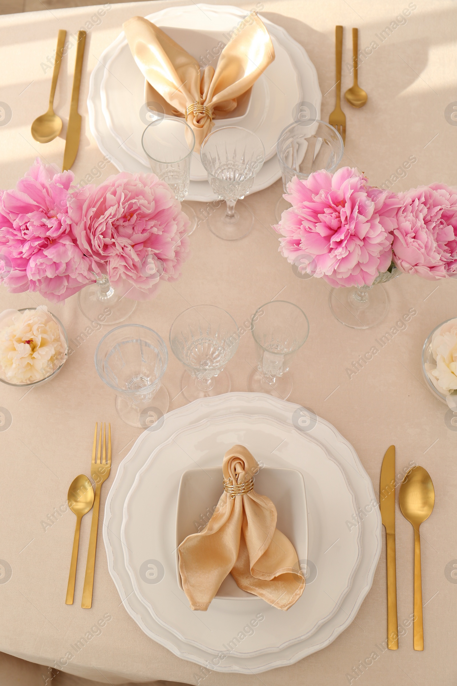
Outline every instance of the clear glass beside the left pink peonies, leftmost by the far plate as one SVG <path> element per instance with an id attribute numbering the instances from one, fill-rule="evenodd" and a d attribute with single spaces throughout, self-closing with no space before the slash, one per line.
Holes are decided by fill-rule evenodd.
<path id="1" fill-rule="evenodd" d="M 189 191 L 190 160 L 195 147 L 193 130 L 184 119 L 161 117 L 145 128 L 141 145 L 153 173 L 169 185 L 189 217 L 187 235 L 190 235 L 197 226 L 197 215 L 183 200 Z"/>

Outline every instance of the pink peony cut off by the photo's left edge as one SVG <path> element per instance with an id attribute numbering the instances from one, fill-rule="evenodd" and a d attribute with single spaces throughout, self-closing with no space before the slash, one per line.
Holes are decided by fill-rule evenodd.
<path id="1" fill-rule="evenodd" d="M 13 293 L 38 291 L 57 302 L 94 281 L 71 233 L 73 173 L 39 158 L 11 191 L 0 191 L 0 278 Z"/>

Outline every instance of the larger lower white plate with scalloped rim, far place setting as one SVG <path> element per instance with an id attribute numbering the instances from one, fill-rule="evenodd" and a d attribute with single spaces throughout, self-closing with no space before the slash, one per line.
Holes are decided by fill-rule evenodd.
<path id="1" fill-rule="evenodd" d="M 154 23 L 161 21 L 162 17 L 172 18 L 180 14 L 186 8 L 173 7 L 149 15 L 149 19 Z M 199 15 L 202 12 L 214 12 L 214 21 L 217 21 L 218 14 L 230 14 L 232 16 L 232 24 L 230 29 L 234 27 L 243 17 L 246 16 L 245 10 L 226 5 L 191 5 L 190 10 L 195 12 L 195 24 L 199 25 Z M 311 103 L 317 110 L 317 117 L 320 116 L 321 110 L 321 91 L 319 90 L 319 83 L 317 80 L 317 72 L 312 64 L 304 47 L 299 45 L 289 34 L 280 26 L 277 26 L 268 19 L 260 17 L 271 36 L 274 36 L 278 43 L 286 48 L 286 51 L 291 56 L 291 60 L 297 71 L 299 78 L 299 98 L 297 102 L 306 101 Z M 116 39 L 119 40 L 120 36 Z M 105 75 L 108 62 L 117 49 L 116 41 L 108 46 L 103 51 L 95 68 L 90 75 L 90 86 L 88 95 L 88 111 L 89 111 L 89 125 L 90 130 L 99 145 L 103 154 L 108 156 L 112 163 L 120 171 L 143 172 L 149 173 L 151 171 L 149 165 L 136 160 L 127 150 L 125 150 L 125 141 L 120 145 L 119 141 L 113 136 L 108 128 L 103 109 L 101 106 L 101 84 Z M 136 68 L 137 71 L 138 68 Z M 127 94 L 128 97 L 133 97 L 133 93 Z M 275 104 L 275 108 L 284 108 L 281 102 Z M 293 120 L 293 112 L 289 113 L 289 121 Z M 281 176 L 280 166 L 277 157 L 273 156 L 266 163 L 256 175 L 254 185 L 251 193 L 256 193 L 264 188 L 269 187 L 272 183 L 277 181 Z M 208 181 L 190 181 L 189 192 L 187 200 L 196 200 L 199 202 L 212 202 L 217 200 L 217 196 L 212 192 Z"/>

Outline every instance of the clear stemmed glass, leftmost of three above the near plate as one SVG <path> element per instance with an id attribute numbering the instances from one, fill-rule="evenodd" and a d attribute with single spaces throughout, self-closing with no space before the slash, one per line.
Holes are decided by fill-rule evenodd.
<path id="1" fill-rule="evenodd" d="M 141 324 L 123 324 L 103 336 L 95 368 L 116 393 L 116 410 L 132 427 L 150 429 L 163 422 L 169 395 L 162 386 L 168 351 L 160 335 Z"/>

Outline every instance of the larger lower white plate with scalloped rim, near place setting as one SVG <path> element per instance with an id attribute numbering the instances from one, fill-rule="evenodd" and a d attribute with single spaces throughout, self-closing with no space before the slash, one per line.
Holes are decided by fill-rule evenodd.
<path id="1" fill-rule="evenodd" d="M 325 648 L 334 641 L 351 624 L 371 588 L 382 541 L 381 518 L 373 485 L 354 448 L 332 425 L 318 418 L 317 425 L 312 429 L 314 442 L 320 443 L 329 454 L 338 460 L 356 495 L 358 510 L 365 510 L 364 517 L 358 518 L 358 524 L 351 529 L 353 533 L 356 530 L 361 531 L 362 558 L 360 565 L 358 565 L 349 592 L 341 602 L 341 608 L 328 622 L 319 627 L 317 632 L 308 639 L 271 654 L 270 657 L 261 655 L 240 658 L 230 654 L 217 664 L 217 659 L 214 659 L 212 653 L 180 641 L 170 630 L 156 622 L 151 617 L 147 607 L 134 593 L 132 580 L 125 567 L 121 544 L 123 505 L 129 490 L 132 488 L 136 474 L 147 462 L 153 449 L 170 438 L 180 427 L 186 427 L 211 416 L 236 412 L 254 415 L 261 413 L 292 425 L 293 412 L 297 410 L 299 410 L 299 405 L 264 394 L 229 393 L 211 399 L 201 399 L 166 414 L 165 421 L 157 427 L 158 430 L 145 431 L 119 465 L 108 494 L 103 521 L 103 540 L 108 557 L 108 568 L 129 615 L 149 637 L 173 652 L 177 657 L 219 672 L 243 674 L 260 673 L 275 667 L 293 664 L 307 655 Z"/>

